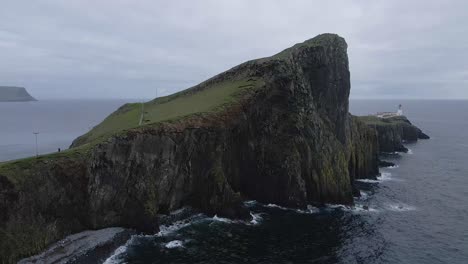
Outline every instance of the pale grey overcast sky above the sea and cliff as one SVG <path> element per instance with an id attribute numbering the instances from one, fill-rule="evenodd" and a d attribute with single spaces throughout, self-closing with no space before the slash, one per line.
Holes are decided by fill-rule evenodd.
<path id="1" fill-rule="evenodd" d="M 468 98 L 468 1 L 2 0 L 0 85 L 152 98 L 325 32 L 352 98 Z"/>

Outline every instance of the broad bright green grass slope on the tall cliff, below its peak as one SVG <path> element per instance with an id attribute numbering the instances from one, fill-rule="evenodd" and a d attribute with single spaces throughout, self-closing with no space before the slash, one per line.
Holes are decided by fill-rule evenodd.
<path id="1" fill-rule="evenodd" d="M 185 90 L 144 103 L 143 125 L 168 121 L 194 113 L 209 113 L 237 101 L 248 89 L 263 85 L 258 78 L 229 80 L 204 89 Z M 197 87 L 195 87 L 197 88 Z M 101 138 L 139 126 L 141 103 L 126 104 L 102 123 L 78 139 L 77 145 L 99 141 Z"/>

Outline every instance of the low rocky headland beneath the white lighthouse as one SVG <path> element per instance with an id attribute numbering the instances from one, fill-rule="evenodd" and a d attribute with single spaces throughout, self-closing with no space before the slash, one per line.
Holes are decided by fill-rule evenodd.
<path id="1" fill-rule="evenodd" d="M 403 143 L 429 139 L 428 135 L 411 124 L 405 116 L 391 118 L 362 116 L 359 120 L 377 130 L 381 152 L 408 152 Z"/>

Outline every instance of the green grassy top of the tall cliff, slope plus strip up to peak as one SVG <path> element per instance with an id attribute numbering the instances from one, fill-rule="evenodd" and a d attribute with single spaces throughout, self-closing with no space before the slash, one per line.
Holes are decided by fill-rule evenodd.
<path id="1" fill-rule="evenodd" d="M 346 46 L 346 42 L 336 34 L 321 34 L 285 49 L 276 55 L 253 60 L 250 63 L 284 60 L 295 51 L 303 48 L 328 47 L 336 44 Z M 346 49 L 346 47 L 342 48 Z M 242 65 L 245 64 L 240 66 Z M 232 70 L 235 71 L 236 68 Z M 76 147 L 96 142 L 115 133 L 138 127 L 142 109 L 144 112 L 142 125 L 151 125 L 196 113 L 216 112 L 235 103 L 246 90 L 264 85 L 264 81 L 258 77 L 230 76 L 223 78 L 223 74 L 225 73 L 179 93 L 146 102 L 143 107 L 141 103 L 126 104 L 87 134 L 75 140 L 72 146 Z"/>

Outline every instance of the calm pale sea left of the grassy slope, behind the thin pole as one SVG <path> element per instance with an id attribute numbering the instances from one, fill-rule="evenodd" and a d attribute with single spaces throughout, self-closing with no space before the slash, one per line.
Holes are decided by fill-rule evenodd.
<path id="1" fill-rule="evenodd" d="M 0 162 L 67 149 L 78 136 L 127 102 L 44 100 L 0 103 Z"/>

